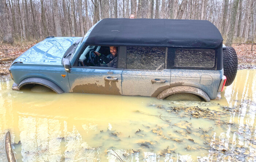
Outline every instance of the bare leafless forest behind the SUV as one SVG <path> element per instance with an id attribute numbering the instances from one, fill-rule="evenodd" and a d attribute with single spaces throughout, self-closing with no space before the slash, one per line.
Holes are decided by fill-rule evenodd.
<path id="1" fill-rule="evenodd" d="M 0 41 L 82 37 L 104 18 L 209 20 L 224 43 L 253 43 L 255 0 L 0 0 Z"/>

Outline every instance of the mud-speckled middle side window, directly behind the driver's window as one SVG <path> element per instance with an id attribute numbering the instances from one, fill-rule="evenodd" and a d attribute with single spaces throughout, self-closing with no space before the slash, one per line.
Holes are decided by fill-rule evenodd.
<path id="1" fill-rule="evenodd" d="M 126 47 L 127 69 L 162 70 L 165 68 L 165 47 Z"/>

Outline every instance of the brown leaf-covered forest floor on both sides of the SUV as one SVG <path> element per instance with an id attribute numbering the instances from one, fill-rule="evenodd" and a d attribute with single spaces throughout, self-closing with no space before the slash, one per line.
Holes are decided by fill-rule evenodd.
<path id="1" fill-rule="evenodd" d="M 23 52 L 35 45 L 37 41 L 15 43 L 13 45 L 0 43 L 0 76 L 9 75 L 9 68 L 12 62 Z M 238 69 L 256 69 L 256 44 L 233 44 L 237 52 Z"/>

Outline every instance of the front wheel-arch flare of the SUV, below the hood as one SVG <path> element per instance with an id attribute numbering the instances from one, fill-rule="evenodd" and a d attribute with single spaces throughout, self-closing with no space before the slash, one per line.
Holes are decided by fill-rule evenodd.
<path id="1" fill-rule="evenodd" d="M 51 82 L 50 80 L 44 79 L 44 78 L 36 78 L 36 77 L 26 78 L 19 83 L 18 88 L 21 88 L 22 86 L 24 86 L 26 84 L 40 84 L 42 86 L 50 88 L 51 90 L 53 90 L 54 92 L 56 92 L 58 94 L 64 93 L 64 91 L 57 84 Z"/>

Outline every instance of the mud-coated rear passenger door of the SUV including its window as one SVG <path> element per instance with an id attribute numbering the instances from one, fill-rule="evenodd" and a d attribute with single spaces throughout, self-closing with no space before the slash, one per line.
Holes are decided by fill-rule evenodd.
<path id="1" fill-rule="evenodd" d="M 127 46 L 122 74 L 123 95 L 157 97 L 170 87 L 171 70 L 165 69 L 165 47 Z"/>

